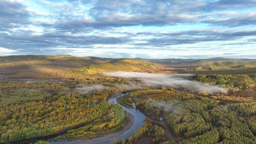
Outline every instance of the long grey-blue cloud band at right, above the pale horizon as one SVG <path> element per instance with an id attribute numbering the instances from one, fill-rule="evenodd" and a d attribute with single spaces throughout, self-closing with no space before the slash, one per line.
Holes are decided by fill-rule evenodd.
<path id="1" fill-rule="evenodd" d="M 246 36 L 255 36 L 255 30 L 220 31 L 220 30 L 189 30 L 180 32 L 138 32 L 137 35 L 154 35 L 156 37 L 145 39 L 144 43 L 135 43 L 140 46 L 169 46 L 175 44 L 190 44 L 208 41 L 239 40 Z"/>

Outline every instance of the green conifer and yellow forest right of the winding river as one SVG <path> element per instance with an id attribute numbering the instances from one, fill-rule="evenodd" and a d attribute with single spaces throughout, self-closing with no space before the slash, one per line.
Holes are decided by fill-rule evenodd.
<path id="1" fill-rule="evenodd" d="M 235 103 L 222 105 L 219 101 L 207 97 L 167 89 L 135 91 L 127 98 L 132 98 L 136 107 L 144 111 L 149 118 L 163 117 L 174 136 L 185 138 L 179 141 L 181 144 L 256 142 L 254 136 L 256 105 L 255 101 L 250 101 L 251 98 L 247 98 L 247 101 L 246 98 L 241 97 L 241 99 L 233 99 Z M 223 99 L 219 98 L 219 100 Z M 248 117 L 249 121 L 246 121 Z M 139 133 L 139 136 L 131 137 L 128 142 L 136 141 L 138 137 L 140 139 L 153 136 L 140 129 L 136 133 Z M 166 133 L 160 134 L 157 141 L 164 141 L 165 135 Z M 174 139 L 165 143 L 175 143 L 175 141 L 178 142 Z"/>

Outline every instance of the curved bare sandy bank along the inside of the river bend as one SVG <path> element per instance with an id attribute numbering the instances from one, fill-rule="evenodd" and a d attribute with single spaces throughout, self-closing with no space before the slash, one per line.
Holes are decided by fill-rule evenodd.
<path id="1" fill-rule="evenodd" d="M 120 134 L 122 134 L 125 131 L 127 131 L 128 129 L 130 129 L 132 124 L 134 123 L 134 116 L 131 113 L 125 111 L 125 116 L 127 118 L 127 123 L 123 129 L 118 130 L 113 133 L 104 134 L 103 136 L 98 137 L 98 138 L 86 139 L 86 140 L 82 139 L 82 140 L 77 140 L 75 142 L 77 142 L 77 143 L 97 142 L 97 141 L 106 140 L 106 139 L 110 139 L 110 138 L 119 136 Z"/>

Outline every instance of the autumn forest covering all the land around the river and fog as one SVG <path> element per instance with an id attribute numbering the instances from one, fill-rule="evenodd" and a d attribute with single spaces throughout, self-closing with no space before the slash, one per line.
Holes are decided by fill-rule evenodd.
<path id="1" fill-rule="evenodd" d="M 111 144 L 256 143 L 256 96 L 236 93 L 255 88 L 256 73 L 240 73 L 254 69 L 254 62 L 219 60 L 0 57 L 0 143 L 53 134 L 58 135 L 32 144 L 101 138 L 123 130 L 131 121 L 120 105 L 137 109 L 147 118 L 129 137 L 113 138 Z M 192 64 L 195 70 L 189 67 Z M 227 74 L 211 73 L 221 67 Z M 194 73 L 187 78 L 206 87 L 224 88 L 227 93 L 146 85 L 141 78 L 103 74 L 114 71 L 205 71 L 209 74 Z M 108 101 L 126 92 L 116 103 Z"/>

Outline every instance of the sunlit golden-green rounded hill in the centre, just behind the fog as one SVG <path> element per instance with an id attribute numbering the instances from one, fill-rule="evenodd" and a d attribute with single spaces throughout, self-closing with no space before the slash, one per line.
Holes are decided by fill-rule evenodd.
<path id="1" fill-rule="evenodd" d="M 133 71 L 133 72 L 157 72 L 161 66 L 139 59 L 117 59 L 98 65 L 90 65 L 78 68 L 77 71 L 87 74 L 96 74 L 114 71 Z"/>

